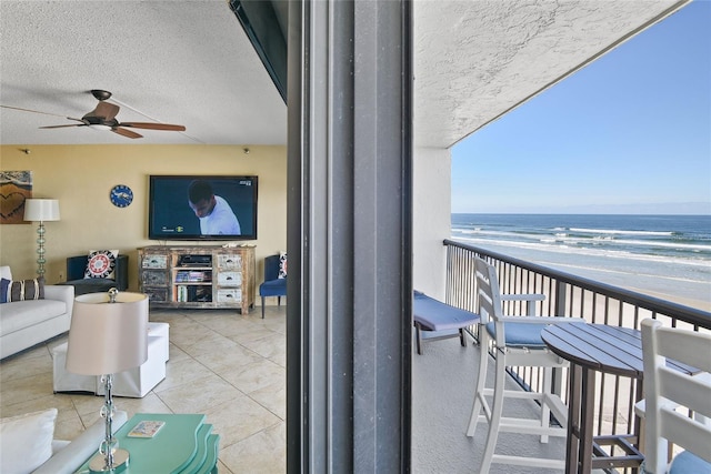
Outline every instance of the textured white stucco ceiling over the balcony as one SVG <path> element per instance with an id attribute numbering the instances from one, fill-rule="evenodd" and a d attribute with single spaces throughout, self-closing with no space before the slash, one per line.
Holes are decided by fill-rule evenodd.
<path id="1" fill-rule="evenodd" d="M 417 143 L 451 147 L 685 3 L 415 1 Z"/>

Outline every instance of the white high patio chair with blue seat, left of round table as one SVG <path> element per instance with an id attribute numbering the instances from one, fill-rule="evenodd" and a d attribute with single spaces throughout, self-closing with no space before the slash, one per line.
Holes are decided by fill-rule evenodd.
<path id="1" fill-rule="evenodd" d="M 549 436 L 565 436 L 568 411 L 560 397 L 551 393 L 551 375 L 553 367 L 567 366 L 568 362 L 554 353 L 541 340 L 541 330 L 547 324 L 580 322 L 570 317 L 538 317 L 535 316 L 535 301 L 545 299 L 542 294 L 511 294 L 502 295 L 495 269 L 482 259 L 475 259 L 478 307 L 481 316 L 479 337 L 481 356 L 474 403 L 471 411 L 467 436 L 473 436 L 478 422 L 488 422 L 489 432 L 487 444 L 478 472 L 485 474 L 492 463 L 515 464 L 535 467 L 564 468 L 563 460 L 542 457 L 524 457 L 494 454 L 499 432 L 537 434 L 541 442 L 547 443 Z M 501 310 L 502 301 L 527 301 L 528 315 L 504 316 Z M 490 341 L 494 343 L 495 382 L 493 389 L 485 387 L 487 365 L 489 361 L 488 347 Z M 505 367 L 533 366 L 543 367 L 543 392 L 527 392 L 523 390 L 507 390 Z M 487 397 L 493 395 L 490 405 Z M 503 401 L 507 397 L 534 400 L 540 403 L 540 417 L 513 418 L 502 417 Z M 560 426 L 551 425 L 550 413 L 553 413 Z"/>

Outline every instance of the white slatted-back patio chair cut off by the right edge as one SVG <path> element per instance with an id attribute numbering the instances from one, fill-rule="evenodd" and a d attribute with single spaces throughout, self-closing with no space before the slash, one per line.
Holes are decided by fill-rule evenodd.
<path id="1" fill-rule="evenodd" d="M 644 472 L 648 474 L 711 473 L 711 335 L 663 327 L 642 321 L 644 401 Z M 667 365 L 667 359 L 703 372 L 687 375 Z M 690 417 L 688 410 L 694 416 Z M 668 445 L 687 451 L 668 463 Z"/>

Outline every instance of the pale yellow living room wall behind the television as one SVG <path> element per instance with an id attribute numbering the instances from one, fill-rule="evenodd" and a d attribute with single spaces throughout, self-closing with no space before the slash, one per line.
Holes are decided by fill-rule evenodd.
<path id="1" fill-rule="evenodd" d="M 46 223 L 48 283 L 64 280 L 67 256 L 118 249 L 129 255 L 130 290 L 138 290 L 137 249 L 164 242 L 148 240 L 150 174 L 258 175 L 258 240 L 247 242 L 257 245 L 257 282 L 263 258 L 287 249 L 286 147 L 250 145 L 244 153 L 234 145 L 33 145 L 30 154 L 24 148 L 1 145 L 0 170 L 32 171 L 32 196 L 59 200 L 61 221 Z M 128 208 L 111 204 L 116 184 L 133 190 Z M 10 265 L 13 278 L 36 275 L 36 223 L 0 225 L 0 265 Z"/>

